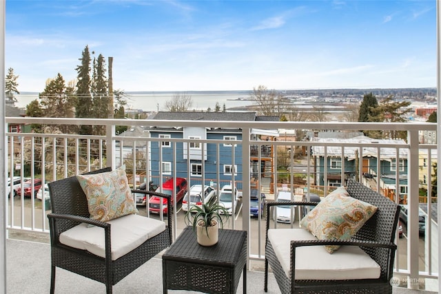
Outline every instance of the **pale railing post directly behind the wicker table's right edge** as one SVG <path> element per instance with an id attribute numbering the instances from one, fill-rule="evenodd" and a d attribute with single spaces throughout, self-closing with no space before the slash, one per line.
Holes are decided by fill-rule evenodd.
<path id="1" fill-rule="evenodd" d="M 242 229 L 247 231 L 247 269 L 249 269 L 249 246 L 251 244 L 250 225 L 249 225 L 249 165 L 250 165 L 250 151 L 249 146 L 251 139 L 251 132 L 249 127 L 242 129 Z M 234 217 L 234 216 L 233 216 Z"/>

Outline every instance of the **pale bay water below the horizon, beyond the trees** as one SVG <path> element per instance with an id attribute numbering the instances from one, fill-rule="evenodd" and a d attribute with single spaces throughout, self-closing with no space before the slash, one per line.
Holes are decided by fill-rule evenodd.
<path id="1" fill-rule="evenodd" d="M 251 105 L 247 101 L 249 91 L 189 91 L 189 92 L 126 92 L 126 109 L 143 109 L 145 112 L 166 111 L 165 102 L 170 101 L 176 94 L 192 97 L 192 109 L 206 111 L 208 107 L 212 110 L 219 103 L 220 109 L 225 107 L 243 107 Z M 32 100 L 38 98 L 38 93 L 21 93 L 16 95 L 17 107 L 26 107 Z"/>

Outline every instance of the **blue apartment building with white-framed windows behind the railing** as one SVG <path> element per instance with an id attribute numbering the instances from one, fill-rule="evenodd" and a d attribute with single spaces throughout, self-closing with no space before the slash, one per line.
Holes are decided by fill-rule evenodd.
<path id="1" fill-rule="evenodd" d="M 257 121 L 278 120 L 257 116 L 255 112 L 158 112 L 153 120 Z M 240 143 L 203 143 L 203 140 L 242 140 L 241 129 L 209 127 L 151 127 L 150 168 L 152 178 L 163 180 L 175 175 L 187 178 L 191 185 L 227 185 L 234 180 L 241 189 L 243 180 L 242 146 Z M 184 142 L 167 139 L 185 139 Z M 189 143 L 188 143 L 189 142 Z M 234 149 L 234 150 L 233 150 Z M 250 163 L 252 165 L 252 163 Z M 203 176 L 204 175 L 204 176 Z"/>

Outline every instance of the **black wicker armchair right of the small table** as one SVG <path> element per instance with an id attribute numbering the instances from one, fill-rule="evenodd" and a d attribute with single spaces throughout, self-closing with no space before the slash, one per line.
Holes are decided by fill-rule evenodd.
<path id="1" fill-rule="evenodd" d="M 393 260 L 395 258 L 396 227 L 400 213 L 400 206 L 388 198 L 381 196 L 376 191 L 361 185 L 353 180 L 348 180 L 347 191 L 353 198 L 368 202 L 378 207 L 376 213 L 363 225 L 356 235 L 347 241 L 340 240 L 308 240 L 291 241 L 290 256 L 284 260 L 289 267 L 289 274 L 283 269 L 278 260 L 274 248 L 278 244 L 271 244 L 268 239 L 269 218 L 266 224 L 265 244 L 265 285 L 267 292 L 268 265 L 276 277 L 281 293 L 392 293 L 389 281 L 393 274 Z M 287 202 L 290 205 L 315 205 L 317 202 Z M 277 202 L 267 203 L 267 216 L 270 216 L 270 209 Z M 295 230 L 295 229 L 294 229 Z M 297 229 L 303 230 L 303 229 Z M 289 242 L 289 241 L 288 241 Z M 275 243 L 275 242 L 274 242 Z M 359 246 L 372 260 L 380 266 L 380 277 L 378 279 L 362 280 L 296 280 L 295 264 L 296 249 L 300 246 L 323 246 L 326 244 L 340 244 L 344 246 Z M 289 250 L 289 249 L 288 249 Z M 336 253 L 334 253 L 336 254 Z M 325 274 L 324 274 L 325 275 Z M 322 276 L 324 276 L 322 275 Z"/>

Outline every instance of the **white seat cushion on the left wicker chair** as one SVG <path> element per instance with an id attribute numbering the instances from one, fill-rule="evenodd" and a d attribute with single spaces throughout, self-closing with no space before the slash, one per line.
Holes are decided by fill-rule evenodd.
<path id="1" fill-rule="evenodd" d="M 164 222 L 136 214 L 115 218 L 109 223 L 111 224 L 112 260 L 121 258 L 146 240 L 165 230 Z M 88 227 L 88 224 L 85 223 L 79 224 L 61 233 L 60 242 L 105 258 L 104 229 L 101 227 Z"/>

